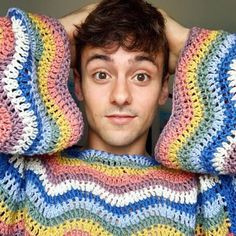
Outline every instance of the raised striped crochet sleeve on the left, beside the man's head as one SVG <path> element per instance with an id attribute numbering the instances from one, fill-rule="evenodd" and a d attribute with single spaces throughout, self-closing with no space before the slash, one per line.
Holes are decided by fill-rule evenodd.
<path id="1" fill-rule="evenodd" d="M 0 18 L 0 152 L 54 153 L 79 140 L 69 70 L 69 40 L 57 20 L 19 9 Z"/>

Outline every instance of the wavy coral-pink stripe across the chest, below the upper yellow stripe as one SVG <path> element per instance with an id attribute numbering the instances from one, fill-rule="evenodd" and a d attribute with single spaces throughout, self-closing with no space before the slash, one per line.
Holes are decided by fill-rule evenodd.
<path id="1" fill-rule="evenodd" d="M 114 187 L 126 187 L 126 191 L 127 186 L 131 186 L 133 189 L 135 185 L 138 189 L 142 185 L 147 185 L 147 183 L 153 185 L 153 181 L 155 181 L 156 184 L 160 183 L 161 185 L 168 186 L 168 188 L 177 189 L 179 191 L 186 191 L 186 188 L 191 189 L 196 185 L 195 175 L 192 173 L 160 168 L 147 171 L 145 174 L 137 172 L 137 174 L 129 175 L 125 173 L 113 177 L 87 165 L 61 165 L 55 157 L 56 155 L 53 155 L 42 160 L 47 169 L 47 178 L 55 184 L 65 181 L 66 179 L 91 179 L 93 182 L 100 182 L 102 186 L 105 185 L 109 189 Z"/>

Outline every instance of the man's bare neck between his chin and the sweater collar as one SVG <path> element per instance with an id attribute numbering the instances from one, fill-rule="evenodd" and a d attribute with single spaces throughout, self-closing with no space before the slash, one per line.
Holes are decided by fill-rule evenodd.
<path id="1" fill-rule="evenodd" d="M 146 151 L 147 133 L 127 145 L 111 145 L 106 143 L 95 133 L 88 132 L 88 142 L 86 148 L 105 151 L 113 154 L 128 155 L 148 155 Z"/>

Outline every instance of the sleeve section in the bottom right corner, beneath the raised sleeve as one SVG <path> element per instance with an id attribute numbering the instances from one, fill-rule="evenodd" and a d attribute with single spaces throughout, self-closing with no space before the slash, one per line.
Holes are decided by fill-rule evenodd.
<path id="1" fill-rule="evenodd" d="M 195 235 L 236 235 L 236 177 L 199 177 Z"/>

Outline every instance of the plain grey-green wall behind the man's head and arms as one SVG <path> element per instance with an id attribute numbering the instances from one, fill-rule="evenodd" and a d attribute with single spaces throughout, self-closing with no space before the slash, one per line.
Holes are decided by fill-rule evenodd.
<path id="1" fill-rule="evenodd" d="M 19 7 L 28 12 L 37 12 L 59 18 L 88 3 L 85 0 L 0 0 L 0 15 L 4 16 L 10 7 Z M 149 0 L 155 6 L 165 9 L 169 15 L 187 27 L 200 26 L 210 29 L 236 31 L 236 0 Z M 171 100 L 160 112 L 171 110 Z M 160 118 L 157 114 L 153 125 L 153 144 L 159 134 Z"/>

